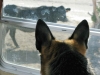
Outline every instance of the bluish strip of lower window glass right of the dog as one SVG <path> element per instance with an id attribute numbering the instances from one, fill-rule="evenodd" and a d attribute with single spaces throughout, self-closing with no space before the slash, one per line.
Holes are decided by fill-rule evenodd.
<path id="1" fill-rule="evenodd" d="M 88 43 L 88 51 L 87 56 L 89 58 L 89 62 L 92 64 L 92 68 L 96 75 L 100 74 L 100 33 L 99 34 L 91 34 L 89 43 Z"/>

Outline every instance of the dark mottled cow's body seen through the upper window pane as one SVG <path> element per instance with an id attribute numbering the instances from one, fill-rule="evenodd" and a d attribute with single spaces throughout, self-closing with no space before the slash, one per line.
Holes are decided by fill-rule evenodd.
<path id="1" fill-rule="evenodd" d="M 16 5 L 6 5 L 4 8 L 4 13 L 5 16 L 19 17 L 25 19 L 43 19 L 47 22 L 66 22 L 66 12 L 70 10 L 70 8 L 65 9 L 64 6 L 40 6 L 28 8 Z"/>

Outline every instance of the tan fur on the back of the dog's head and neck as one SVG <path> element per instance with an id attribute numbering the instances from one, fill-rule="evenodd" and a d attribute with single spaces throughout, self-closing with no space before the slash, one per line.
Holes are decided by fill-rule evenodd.
<path id="1" fill-rule="evenodd" d="M 55 59 L 55 53 L 57 53 L 58 43 L 65 42 L 66 44 L 70 45 L 70 47 L 76 48 L 76 50 L 85 56 L 86 54 L 86 47 L 84 43 L 79 44 L 76 40 L 64 40 L 64 41 L 58 41 L 53 40 L 51 43 L 50 49 L 47 48 L 47 46 L 42 46 L 42 52 L 41 55 L 44 58 L 44 63 L 42 64 L 41 68 L 41 74 L 42 75 L 49 75 L 50 67 L 49 64 Z"/>

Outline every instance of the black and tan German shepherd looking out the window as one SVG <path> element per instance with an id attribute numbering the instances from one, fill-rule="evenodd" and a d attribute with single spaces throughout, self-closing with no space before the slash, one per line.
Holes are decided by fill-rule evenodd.
<path id="1" fill-rule="evenodd" d="M 44 21 L 36 25 L 36 48 L 41 53 L 42 75 L 94 75 L 86 58 L 89 25 L 83 20 L 73 34 L 64 41 L 52 35 Z"/>

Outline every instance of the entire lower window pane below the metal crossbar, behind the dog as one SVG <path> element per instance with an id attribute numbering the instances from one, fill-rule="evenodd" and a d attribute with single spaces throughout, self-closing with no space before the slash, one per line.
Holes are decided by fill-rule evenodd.
<path id="1" fill-rule="evenodd" d="M 2 46 L 4 60 L 8 63 L 40 69 L 40 56 L 35 47 L 35 29 L 3 24 L 3 30 L 2 39 L 4 44 Z M 70 29 L 52 31 L 58 40 L 67 39 L 72 32 Z M 97 75 L 100 74 L 99 38 L 100 33 L 91 33 L 87 50 L 87 57 Z"/>

